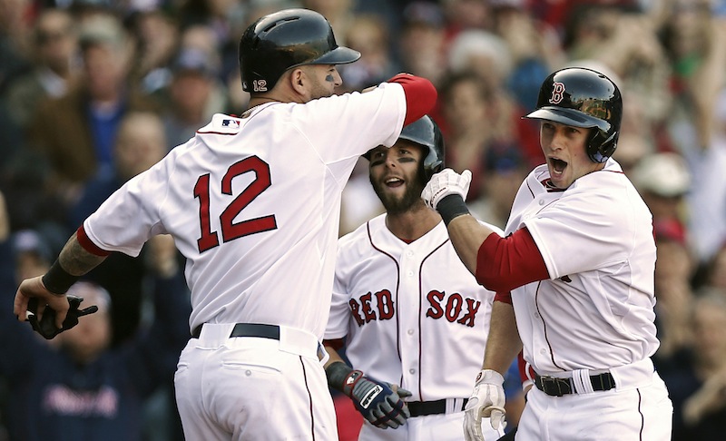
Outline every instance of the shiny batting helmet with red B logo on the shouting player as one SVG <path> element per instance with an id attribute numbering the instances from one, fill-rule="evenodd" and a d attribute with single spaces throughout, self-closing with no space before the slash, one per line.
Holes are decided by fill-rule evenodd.
<path id="1" fill-rule="evenodd" d="M 542 83 L 535 112 L 525 118 L 594 128 L 587 142 L 593 162 L 605 162 L 615 152 L 623 98 L 613 81 L 584 67 L 568 67 L 550 74 Z"/>

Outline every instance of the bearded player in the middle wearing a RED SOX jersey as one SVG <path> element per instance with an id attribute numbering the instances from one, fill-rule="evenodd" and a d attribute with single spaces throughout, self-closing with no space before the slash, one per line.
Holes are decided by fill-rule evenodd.
<path id="1" fill-rule="evenodd" d="M 458 441 L 495 293 L 476 283 L 421 200 L 443 167 L 436 122 L 412 122 L 392 148 L 365 156 L 387 212 L 338 240 L 324 340 L 329 385 L 365 417 L 358 439 Z M 354 368 L 336 352 L 343 338 Z"/>

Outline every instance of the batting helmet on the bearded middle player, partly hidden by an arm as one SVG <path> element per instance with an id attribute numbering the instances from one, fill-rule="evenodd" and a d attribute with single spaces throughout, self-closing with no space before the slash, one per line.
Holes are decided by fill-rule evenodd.
<path id="1" fill-rule="evenodd" d="M 424 115 L 404 126 L 398 139 L 414 142 L 424 147 L 426 156 L 421 162 L 421 167 L 425 182 L 431 179 L 434 173 L 444 169 L 444 135 L 430 116 Z M 363 156 L 370 160 L 372 151 L 373 149 L 369 150 Z"/>

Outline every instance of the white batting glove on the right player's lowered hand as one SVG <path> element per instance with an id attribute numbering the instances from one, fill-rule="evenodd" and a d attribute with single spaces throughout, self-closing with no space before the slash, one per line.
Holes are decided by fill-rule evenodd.
<path id="1" fill-rule="evenodd" d="M 499 429 L 505 417 L 505 378 L 491 369 L 484 369 L 476 377 L 474 391 L 464 408 L 464 438 L 466 441 L 484 441 L 482 417 L 489 417 L 492 428 Z"/>

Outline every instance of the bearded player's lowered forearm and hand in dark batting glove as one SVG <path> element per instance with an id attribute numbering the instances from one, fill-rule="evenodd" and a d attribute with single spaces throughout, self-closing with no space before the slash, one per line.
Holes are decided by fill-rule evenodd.
<path id="1" fill-rule="evenodd" d="M 380 428 L 397 428 L 406 424 L 410 417 L 403 401 L 411 393 L 402 387 L 366 377 L 363 372 L 350 368 L 329 347 L 330 359 L 325 366 L 330 387 L 339 390 L 353 400 L 353 404 L 372 425 Z"/>

